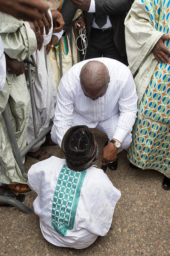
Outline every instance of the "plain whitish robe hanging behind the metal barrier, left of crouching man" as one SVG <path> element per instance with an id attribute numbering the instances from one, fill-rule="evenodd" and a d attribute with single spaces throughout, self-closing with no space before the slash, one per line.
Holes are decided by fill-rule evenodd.
<path id="1" fill-rule="evenodd" d="M 51 16 L 51 11 L 49 10 Z M 51 16 L 52 19 L 52 16 Z M 41 51 L 37 50 L 32 54 L 32 60 L 35 64 L 35 74 L 36 78 L 33 83 L 33 94 L 35 103 L 35 118 L 37 124 L 38 135 L 49 127 L 50 120 L 54 116 L 55 104 L 57 101 L 57 90 L 53 82 L 51 67 L 47 59 L 47 68 L 45 63 L 45 48 L 50 40 L 53 33 L 53 26 L 49 31 L 49 34 L 45 34 L 44 29 L 44 42 Z M 30 108 L 29 122 L 27 130 L 27 144 L 29 144 L 33 139 L 34 129 L 33 129 L 33 118 L 32 109 Z M 45 141 L 45 137 L 42 138 L 30 151 L 36 151 Z"/>

